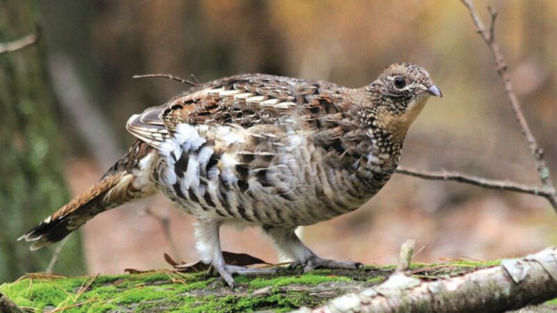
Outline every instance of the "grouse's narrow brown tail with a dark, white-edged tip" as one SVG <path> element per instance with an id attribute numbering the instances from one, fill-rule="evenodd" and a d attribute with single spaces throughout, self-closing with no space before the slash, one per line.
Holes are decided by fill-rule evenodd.
<path id="1" fill-rule="evenodd" d="M 149 194 L 149 188 L 137 186 L 135 175 L 125 170 L 105 175 L 88 191 L 65 204 L 17 240 L 32 241 L 31 250 L 61 241 L 93 216 L 120 204 Z"/>

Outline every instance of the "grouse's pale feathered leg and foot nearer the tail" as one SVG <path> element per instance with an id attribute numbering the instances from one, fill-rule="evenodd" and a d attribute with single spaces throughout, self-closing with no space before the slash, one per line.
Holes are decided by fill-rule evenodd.
<path id="1" fill-rule="evenodd" d="M 228 286 L 234 288 L 235 283 L 232 274 L 258 275 L 278 271 L 278 268 L 249 268 L 226 264 L 221 250 L 220 227 L 221 222 L 215 220 L 198 220 L 196 224 L 196 248 L 201 253 L 203 262 L 211 264 L 207 270 L 207 276 L 212 275 L 214 270 L 217 270 Z"/>

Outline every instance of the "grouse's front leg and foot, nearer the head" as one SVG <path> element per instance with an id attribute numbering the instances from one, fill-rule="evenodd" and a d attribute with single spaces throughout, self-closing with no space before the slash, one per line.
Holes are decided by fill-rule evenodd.
<path id="1" fill-rule="evenodd" d="M 363 266 L 359 262 L 336 261 L 332 259 L 322 259 L 309 250 L 304 243 L 300 241 L 292 227 L 263 227 L 263 230 L 269 234 L 274 240 L 276 246 L 294 261 L 290 264 L 290 268 L 304 266 L 304 273 L 311 271 L 313 268 L 348 268 L 354 269 Z"/>

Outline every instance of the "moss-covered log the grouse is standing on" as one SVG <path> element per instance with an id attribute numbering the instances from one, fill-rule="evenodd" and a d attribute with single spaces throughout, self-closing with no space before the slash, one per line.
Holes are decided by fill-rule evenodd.
<path id="1" fill-rule="evenodd" d="M 328 301 L 345 294 L 360 294 L 372 287 L 385 287 L 389 277 L 393 277 L 394 268 L 323 269 L 305 274 L 285 269 L 274 275 L 237 276 L 234 290 L 221 278 L 169 269 L 75 278 L 38 273 L 1 285 L 0 293 L 32 312 L 290 312 L 300 307 L 320 307 L 321 312 L 334 312 L 336 309 Z M 405 274 L 395 275 L 431 283 L 492 268 L 502 268 L 501 262 L 411 264 Z M 407 309 L 400 312 L 411 311 Z M 553 309 L 557 309 L 557 299 L 533 307 L 540 312 Z M 489 311 L 489 307 L 484 310 Z"/>

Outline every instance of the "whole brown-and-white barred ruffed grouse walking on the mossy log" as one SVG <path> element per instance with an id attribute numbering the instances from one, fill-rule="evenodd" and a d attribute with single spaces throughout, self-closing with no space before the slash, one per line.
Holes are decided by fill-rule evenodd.
<path id="1" fill-rule="evenodd" d="M 368 201 L 398 165 L 408 127 L 441 92 L 422 68 L 387 67 L 359 89 L 263 74 L 204 83 L 133 115 L 130 150 L 97 184 L 20 239 L 36 250 L 96 214 L 162 191 L 197 217 L 197 248 L 233 286 L 219 227 L 259 225 L 306 270 L 355 268 L 317 257 L 299 225 L 346 214 Z"/>

